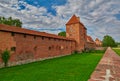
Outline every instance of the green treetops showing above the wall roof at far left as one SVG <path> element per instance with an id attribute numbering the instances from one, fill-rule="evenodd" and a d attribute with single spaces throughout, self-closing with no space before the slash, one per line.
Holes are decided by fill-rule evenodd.
<path id="1" fill-rule="evenodd" d="M 13 19 L 12 17 L 0 17 L 0 24 L 22 27 L 22 22 L 19 19 Z"/>

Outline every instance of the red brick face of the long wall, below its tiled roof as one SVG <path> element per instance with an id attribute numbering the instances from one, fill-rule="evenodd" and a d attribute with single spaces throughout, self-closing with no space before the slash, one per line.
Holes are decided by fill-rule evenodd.
<path id="1" fill-rule="evenodd" d="M 16 48 L 11 52 L 11 63 L 71 54 L 75 50 L 75 41 L 18 33 L 12 36 L 11 32 L 1 31 L 0 44 L 0 50 Z"/>

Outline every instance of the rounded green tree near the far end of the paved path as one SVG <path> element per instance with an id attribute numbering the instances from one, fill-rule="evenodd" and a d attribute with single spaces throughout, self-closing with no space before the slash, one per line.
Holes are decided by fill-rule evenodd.
<path id="1" fill-rule="evenodd" d="M 102 44 L 103 44 L 103 47 L 108 47 L 108 46 L 115 47 L 116 46 L 115 40 L 109 35 L 104 36 Z"/>

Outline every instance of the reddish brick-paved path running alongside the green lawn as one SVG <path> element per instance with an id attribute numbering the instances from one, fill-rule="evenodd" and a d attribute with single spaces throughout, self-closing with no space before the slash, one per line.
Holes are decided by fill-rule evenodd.
<path id="1" fill-rule="evenodd" d="M 109 47 L 88 81 L 120 81 L 120 56 Z"/>

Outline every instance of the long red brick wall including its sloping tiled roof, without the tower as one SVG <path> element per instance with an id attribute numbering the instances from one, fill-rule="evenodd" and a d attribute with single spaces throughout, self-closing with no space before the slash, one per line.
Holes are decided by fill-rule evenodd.
<path id="1" fill-rule="evenodd" d="M 75 50 L 75 41 L 72 39 L 16 27 L 9 28 L 0 25 L 0 51 L 11 51 L 10 65 L 64 56 Z M 3 66 L 1 59 L 0 66 Z"/>

